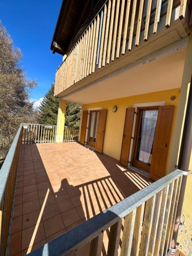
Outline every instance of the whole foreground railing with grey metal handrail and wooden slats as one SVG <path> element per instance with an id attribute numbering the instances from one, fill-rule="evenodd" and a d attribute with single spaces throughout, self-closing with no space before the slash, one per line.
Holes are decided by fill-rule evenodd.
<path id="1" fill-rule="evenodd" d="M 108 255 L 166 255 L 172 241 L 184 174 L 175 170 L 30 255 L 71 255 L 88 244 L 90 256 L 101 255 L 106 230 Z"/>

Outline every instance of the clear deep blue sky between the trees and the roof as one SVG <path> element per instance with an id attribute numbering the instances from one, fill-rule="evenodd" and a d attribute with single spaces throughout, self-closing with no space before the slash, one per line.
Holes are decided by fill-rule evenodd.
<path id="1" fill-rule="evenodd" d="M 22 66 L 27 77 L 37 80 L 31 99 L 39 100 L 54 81 L 62 56 L 50 50 L 61 0 L 2 0 L 0 19 L 14 47 L 23 54 Z"/>

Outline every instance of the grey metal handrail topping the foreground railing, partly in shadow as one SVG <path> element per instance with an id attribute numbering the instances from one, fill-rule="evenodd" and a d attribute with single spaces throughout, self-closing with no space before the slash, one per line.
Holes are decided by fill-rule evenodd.
<path id="1" fill-rule="evenodd" d="M 63 233 L 58 238 L 39 247 L 30 255 L 70 255 L 75 250 L 87 245 L 95 239 L 101 232 L 114 225 L 117 221 L 124 218 L 127 214 L 136 209 L 139 205 L 157 194 L 161 189 L 178 179 L 184 173 L 177 169 L 174 172 L 164 176 L 158 181 L 141 189 L 137 193 L 125 198 L 121 202 L 106 209 L 100 214 L 76 226 L 75 228 Z"/>

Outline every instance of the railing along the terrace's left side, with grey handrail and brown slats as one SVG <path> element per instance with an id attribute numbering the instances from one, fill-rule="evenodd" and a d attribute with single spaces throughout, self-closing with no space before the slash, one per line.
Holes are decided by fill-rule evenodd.
<path id="1" fill-rule="evenodd" d="M 22 131 L 23 125 L 20 124 L 0 170 L 0 255 L 5 255 L 7 247 Z"/>

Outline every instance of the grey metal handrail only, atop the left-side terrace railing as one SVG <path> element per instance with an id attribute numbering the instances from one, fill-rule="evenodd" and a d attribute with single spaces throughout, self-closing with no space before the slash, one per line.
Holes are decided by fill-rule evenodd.
<path id="1" fill-rule="evenodd" d="M 14 155 L 15 155 L 15 152 L 16 152 L 16 147 L 17 147 L 17 143 L 18 143 L 18 140 L 19 140 L 19 136 L 20 136 L 20 133 L 22 131 L 22 128 L 23 128 L 23 124 L 21 123 L 20 126 L 19 126 L 19 129 L 15 135 L 15 138 L 9 148 L 9 152 L 5 158 L 5 161 L 2 165 L 2 168 L 0 169 L 0 206 L 2 204 L 2 199 L 3 199 L 3 195 L 4 195 L 4 191 L 5 191 L 5 187 L 6 187 L 6 184 L 7 184 L 7 181 L 8 181 L 8 177 L 9 177 L 9 172 L 10 172 L 10 169 L 11 169 L 11 165 L 12 165 L 12 162 L 13 162 L 13 158 L 14 158 Z"/>

